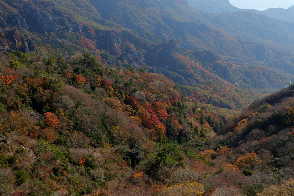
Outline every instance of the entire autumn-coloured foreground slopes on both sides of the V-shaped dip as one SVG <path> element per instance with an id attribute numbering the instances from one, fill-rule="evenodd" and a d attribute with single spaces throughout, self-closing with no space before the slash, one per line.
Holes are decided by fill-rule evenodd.
<path id="1" fill-rule="evenodd" d="M 1 195 L 293 194 L 294 84 L 227 121 L 143 68 L 0 55 Z"/>

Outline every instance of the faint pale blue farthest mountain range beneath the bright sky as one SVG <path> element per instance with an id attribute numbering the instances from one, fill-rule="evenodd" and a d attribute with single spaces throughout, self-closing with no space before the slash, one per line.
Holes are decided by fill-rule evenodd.
<path id="1" fill-rule="evenodd" d="M 294 5 L 290 6 L 288 9 L 283 8 L 269 8 L 264 11 L 259 11 L 255 9 L 240 9 L 227 0 L 189 0 L 188 4 L 193 8 L 200 9 L 207 13 L 232 13 L 237 11 L 250 11 L 255 14 L 262 14 L 270 18 L 278 19 L 280 21 L 286 21 L 294 23 Z"/>

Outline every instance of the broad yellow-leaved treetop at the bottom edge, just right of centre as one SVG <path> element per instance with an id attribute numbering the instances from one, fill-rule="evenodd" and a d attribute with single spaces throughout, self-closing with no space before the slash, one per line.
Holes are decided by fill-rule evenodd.
<path id="1" fill-rule="evenodd" d="M 201 196 L 204 186 L 197 182 L 175 184 L 167 188 L 167 196 Z"/>

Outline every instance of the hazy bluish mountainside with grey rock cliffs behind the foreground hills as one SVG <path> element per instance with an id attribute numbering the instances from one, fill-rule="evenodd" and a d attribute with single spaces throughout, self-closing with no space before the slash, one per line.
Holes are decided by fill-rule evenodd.
<path id="1" fill-rule="evenodd" d="M 163 74 L 178 84 L 214 77 L 225 86 L 260 93 L 293 80 L 293 25 L 265 16 L 214 17 L 185 1 L 15 0 L 1 5 L 2 50 L 47 57 L 90 52 L 109 66 L 167 68 L 171 72 Z"/>

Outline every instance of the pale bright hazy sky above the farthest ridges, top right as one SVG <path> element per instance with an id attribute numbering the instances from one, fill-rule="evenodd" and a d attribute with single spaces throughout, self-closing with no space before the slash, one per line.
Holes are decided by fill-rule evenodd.
<path id="1" fill-rule="evenodd" d="M 285 8 L 294 5 L 294 0 L 230 0 L 230 3 L 240 9 L 266 10 L 268 8 Z"/>

